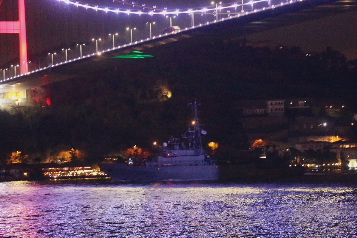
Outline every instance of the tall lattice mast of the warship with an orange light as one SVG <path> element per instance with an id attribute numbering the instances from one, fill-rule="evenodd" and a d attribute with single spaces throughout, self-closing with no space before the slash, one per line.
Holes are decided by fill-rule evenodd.
<path id="1" fill-rule="evenodd" d="M 188 103 L 188 106 L 194 109 L 195 111 L 195 119 L 192 122 L 192 125 L 188 127 L 187 132 L 182 136 L 182 138 L 186 138 L 192 143 L 192 148 L 195 150 L 199 150 L 201 153 L 202 149 L 202 141 L 201 141 L 201 128 L 200 128 L 200 122 L 198 120 L 198 106 L 201 106 L 201 104 L 198 104 L 196 101 L 194 103 Z"/>

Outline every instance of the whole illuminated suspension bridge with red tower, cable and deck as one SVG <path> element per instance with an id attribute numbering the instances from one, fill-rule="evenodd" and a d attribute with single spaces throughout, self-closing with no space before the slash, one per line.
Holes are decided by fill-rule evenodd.
<path id="1" fill-rule="evenodd" d="M 5 1 L 7 0 L 0 0 L 0 9 L 1 3 Z M 56 3 L 54 6 L 57 8 L 66 6 L 67 11 L 82 8 L 95 13 L 102 12 L 120 20 L 135 15 L 144 18 L 144 21 L 129 23 L 130 26 L 125 28 L 126 38 L 120 38 L 118 35 L 124 33 L 118 33 L 118 30 L 105 33 L 106 38 L 81 39 L 77 43 L 73 43 L 73 39 L 68 39 L 71 47 L 68 47 L 70 44 L 65 44 L 65 47 L 60 47 L 61 49 L 45 46 L 45 50 L 49 52 L 42 52 L 42 57 L 36 60 L 28 57 L 33 54 L 27 50 L 26 21 L 27 24 L 37 23 L 29 18 L 25 19 L 25 15 L 28 15 L 25 13 L 25 1 L 18 0 L 17 20 L 0 21 L 0 33 L 19 35 L 19 57 L 17 60 L 6 59 L 11 63 L 0 66 L 0 104 L 30 103 L 27 99 L 29 89 L 81 74 L 114 68 L 118 64 L 118 59 L 113 57 L 132 51 L 169 54 L 170 49 L 179 45 L 197 44 L 216 38 L 229 40 L 357 10 L 357 0 L 242 0 L 231 4 L 212 2 L 211 5 L 201 8 L 160 8 L 126 0 L 114 0 L 108 6 L 72 0 L 50 1 Z M 134 27 L 140 24 L 145 27 Z M 165 45 L 170 47 L 165 48 Z M 0 51 L 4 52 L 4 49 Z M 137 57 L 144 56 L 139 54 Z"/>

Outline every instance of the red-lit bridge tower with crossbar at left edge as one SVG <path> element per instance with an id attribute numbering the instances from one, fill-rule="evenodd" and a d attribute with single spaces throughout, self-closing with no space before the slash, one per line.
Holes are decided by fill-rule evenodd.
<path id="1" fill-rule="evenodd" d="M 27 73 L 25 0 L 19 0 L 19 20 L 0 21 L 0 33 L 19 34 L 21 74 Z"/>

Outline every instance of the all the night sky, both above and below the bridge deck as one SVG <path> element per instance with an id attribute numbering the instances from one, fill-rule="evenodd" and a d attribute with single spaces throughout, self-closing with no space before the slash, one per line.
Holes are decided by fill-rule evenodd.
<path id="1" fill-rule="evenodd" d="M 116 6 L 130 8 L 129 5 L 113 3 L 112 0 L 87 0 L 100 6 Z M 131 1 L 130 1 L 131 2 Z M 137 4 L 144 3 L 136 2 Z M 210 1 L 146 1 L 146 5 L 157 5 L 157 8 L 189 8 L 208 6 Z M 176 3 L 175 3 L 176 2 Z M 152 34 L 158 35 L 163 28 L 169 26 L 169 20 L 162 16 L 126 16 L 124 14 L 95 12 L 59 3 L 56 0 L 25 1 L 27 21 L 27 44 L 30 60 L 39 60 L 47 52 L 57 51 L 56 48 L 72 47 L 76 43 L 90 43 L 91 38 L 102 38 L 102 45 L 107 48 L 111 38 L 108 33 L 118 32 L 117 43 L 125 44 L 130 40 L 126 27 L 136 27 L 133 38 L 146 38 L 149 34 L 147 21 L 156 21 Z M 17 20 L 17 1 L 3 0 L 0 6 L 0 21 Z M 271 45 L 279 43 L 287 46 L 301 46 L 306 51 L 322 51 L 327 46 L 342 51 L 348 59 L 357 58 L 357 11 L 338 14 L 284 28 L 278 28 L 249 36 L 247 39 L 258 42 L 268 41 Z M 213 20 L 212 15 L 195 16 L 195 23 Z M 173 25 L 187 26 L 190 24 L 188 15 L 180 15 L 173 20 Z M 134 39 L 135 40 L 135 39 Z M 87 44 L 88 45 L 88 44 Z M 88 47 L 93 47 L 88 46 Z M 88 49 L 89 50 L 89 49 Z M 77 50 L 78 51 L 78 50 Z M 85 49 L 84 49 L 85 51 Z M 0 65 L 9 62 L 16 63 L 18 57 L 17 34 L 0 35 Z M 40 54 L 42 52 L 42 54 Z M 72 51 L 74 52 L 74 51 Z M 74 53 L 72 53 L 74 54 Z M 13 61 L 10 61 L 13 60 Z"/>

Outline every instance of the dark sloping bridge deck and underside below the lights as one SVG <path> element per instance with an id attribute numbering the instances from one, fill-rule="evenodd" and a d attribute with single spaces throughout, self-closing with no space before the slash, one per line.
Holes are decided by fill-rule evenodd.
<path id="1" fill-rule="evenodd" d="M 21 76 L 15 80 L 0 83 L 0 93 L 35 88 L 56 81 L 75 78 L 82 74 L 112 69 L 120 64 L 121 60 L 125 60 L 112 59 L 112 57 L 126 54 L 133 50 L 145 50 L 145 53 L 153 55 L 157 53 L 169 54 L 173 48 L 181 44 L 195 45 L 199 42 L 212 40 L 229 40 L 347 11 L 357 11 L 357 0 L 305 0 L 245 15 L 240 18 L 232 18 L 216 24 L 182 31 L 175 35 L 138 43 L 126 48 L 112 50 L 101 55 Z"/>

